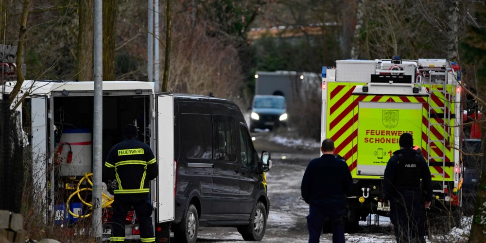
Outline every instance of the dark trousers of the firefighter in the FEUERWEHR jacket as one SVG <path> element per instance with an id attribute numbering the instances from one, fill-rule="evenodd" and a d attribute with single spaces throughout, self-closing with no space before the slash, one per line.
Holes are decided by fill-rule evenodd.
<path id="1" fill-rule="evenodd" d="M 113 218 L 111 223 L 112 237 L 110 242 L 124 242 L 125 240 L 125 219 L 130 207 L 135 208 L 139 219 L 140 240 L 143 243 L 155 242 L 154 226 L 152 225 L 152 205 L 150 205 L 148 194 L 120 195 L 115 194 Z"/>

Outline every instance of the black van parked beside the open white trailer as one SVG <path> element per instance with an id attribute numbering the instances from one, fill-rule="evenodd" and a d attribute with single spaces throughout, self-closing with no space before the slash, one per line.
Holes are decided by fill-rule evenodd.
<path id="1" fill-rule="evenodd" d="M 259 158 L 241 110 L 224 99 L 174 94 L 174 123 L 176 242 L 194 243 L 199 226 L 237 227 L 244 240 L 260 241 L 270 153 Z"/>

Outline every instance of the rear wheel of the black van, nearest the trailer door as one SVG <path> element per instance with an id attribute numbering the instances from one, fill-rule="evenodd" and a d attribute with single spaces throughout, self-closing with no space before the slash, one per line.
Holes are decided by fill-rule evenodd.
<path id="1" fill-rule="evenodd" d="M 174 232 L 176 243 L 195 243 L 199 229 L 199 218 L 194 205 L 190 204 L 186 216 L 182 219 L 180 226 Z"/>

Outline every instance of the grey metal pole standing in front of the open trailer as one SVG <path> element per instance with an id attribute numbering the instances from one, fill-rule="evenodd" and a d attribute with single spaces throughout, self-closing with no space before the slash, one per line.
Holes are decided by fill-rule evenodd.
<path id="1" fill-rule="evenodd" d="M 103 0 L 94 1 L 93 221 L 91 236 L 102 237 Z"/>

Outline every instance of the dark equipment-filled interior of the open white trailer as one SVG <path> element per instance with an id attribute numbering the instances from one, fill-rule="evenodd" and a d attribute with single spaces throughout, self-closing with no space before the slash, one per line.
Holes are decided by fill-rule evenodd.
<path id="1" fill-rule="evenodd" d="M 69 196 L 76 191 L 78 182 L 86 173 L 92 173 L 93 96 L 52 96 L 52 99 L 52 140 L 56 155 L 54 175 L 49 178 L 53 178 L 53 185 L 56 185 L 55 204 L 65 207 Z M 103 163 L 111 147 L 123 139 L 123 129 L 127 124 L 136 124 L 139 128 L 138 139 L 150 143 L 150 101 L 150 95 L 103 97 Z M 80 188 L 91 188 L 86 180 L 82 184 Z M 81 191 L 79 195 L 84 201 L 91 202 L 90 191 Z M 75 214 L 90 212 L 77 195 L 71 197 L 69 205 Z M 67 212 L 64 215 L 66 217 L 62 223 L 74 223 L 77 220 Z"/>

